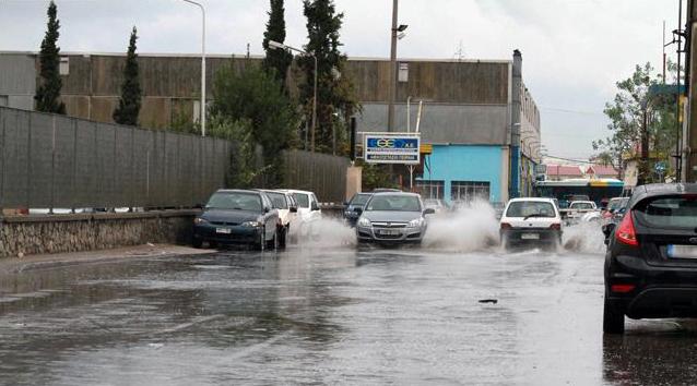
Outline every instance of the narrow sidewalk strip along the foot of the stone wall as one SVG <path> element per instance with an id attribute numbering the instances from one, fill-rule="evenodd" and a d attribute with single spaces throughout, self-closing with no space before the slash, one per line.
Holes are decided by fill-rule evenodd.
<path id="1" fill-rule="evenodd" d="M 214 250 L 196 250 L 190 246 L 182 245 L 144 244 L 103 251 L 57 253 L 24 257 L 0 257 L 0 275 L 78 264 L 111 263 L 127 258 L 198 255 L 214 252 Z"/>

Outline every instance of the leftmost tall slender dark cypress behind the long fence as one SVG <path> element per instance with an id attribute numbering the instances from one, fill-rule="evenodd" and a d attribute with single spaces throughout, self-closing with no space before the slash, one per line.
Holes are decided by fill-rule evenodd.
<path id="1" fill-rule="evenodd" d="M 48 24 L 46 35 L 42 40 L 39 52 L 39 81 L 34 99 L 36 109 L 44 112 L 66 113 L 66 105 L 60 100 L 60 89 L 63 83 L 60 79 L 60 47 L 57 46 L 60 35 L 58 10 L 52 1 L 48 4 Z"/>

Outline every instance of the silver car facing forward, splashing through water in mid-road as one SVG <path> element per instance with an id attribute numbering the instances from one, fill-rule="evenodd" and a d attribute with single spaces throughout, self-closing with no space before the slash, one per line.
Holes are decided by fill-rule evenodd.
<path id="1" fill-rule="evenodd" d="M 421 243 L 426 233 L 425 208 L 415 193 L 375 193 L 365 205 L 356 224 L 358 242 Z"/>

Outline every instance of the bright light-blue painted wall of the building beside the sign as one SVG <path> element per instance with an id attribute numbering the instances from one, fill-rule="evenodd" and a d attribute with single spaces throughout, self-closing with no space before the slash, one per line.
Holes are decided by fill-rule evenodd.
<path id="1" fill-rule="evenodd" d="M 430 173 L 425 170 L 420 180 L 445 181 L 447 202 L 451 202 L 452 181 L 489 182 L 489 201 L 503 202 L 506 200 L 503 180 L 508 179 L 503 174 L 503 152 L 500 146 L 434 145 Z"/>

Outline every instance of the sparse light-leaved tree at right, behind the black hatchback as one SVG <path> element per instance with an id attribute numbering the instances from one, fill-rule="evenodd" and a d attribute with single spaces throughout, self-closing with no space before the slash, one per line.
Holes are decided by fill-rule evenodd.
<path id="1" fill-rule="evenodd" d="M 651 172 L 654 162 L 671 164 L 671 149 L 676 141 L 676 97 L 661 92 L 662 83 L 663 80 L 653 74 L 650 63 L 637 65 L 630 77 L 617 82 L 618 92 L 604 109 L 610 119 L 611 135 L 593 142 L 593 149 L 599 152 L 593 157 L 596 161 L 623 171 L 629 160 L 636 159 L 640 182 L 655 179 Z M 649 154 L 641 158 L 645 124 Z M 669 170 L 669 174 L 674 172 Z"/>

